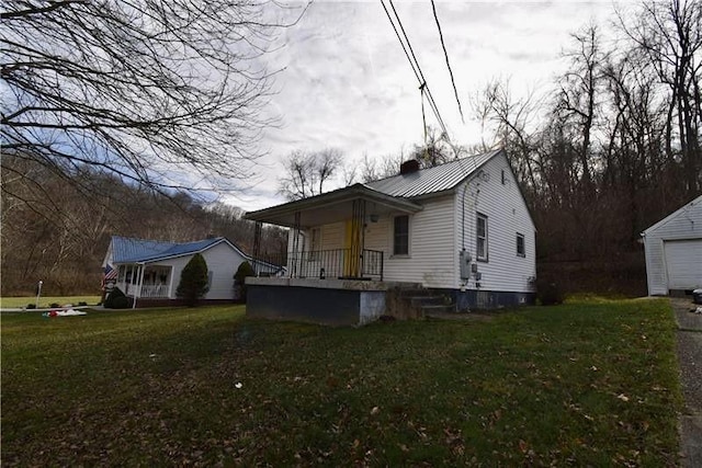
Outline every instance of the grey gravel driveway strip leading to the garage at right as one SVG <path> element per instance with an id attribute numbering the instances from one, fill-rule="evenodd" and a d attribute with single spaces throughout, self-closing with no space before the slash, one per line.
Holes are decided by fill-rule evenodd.
<path id="1" fill-rule="evenodd" d="M 684 397 L 681 466 L 702 467 L 702 313 L 691 300 L 671 298 L 678 322 L 678 359 Z"/>

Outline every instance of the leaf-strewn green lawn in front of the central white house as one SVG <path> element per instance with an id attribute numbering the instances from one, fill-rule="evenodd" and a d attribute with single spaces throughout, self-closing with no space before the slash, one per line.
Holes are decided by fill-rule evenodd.
<path id="1" fill-rule="evenodd" d="M 4 315 L 2 461 L 675 466 L 673 326 L 665 300 L 361 329 Z"/>

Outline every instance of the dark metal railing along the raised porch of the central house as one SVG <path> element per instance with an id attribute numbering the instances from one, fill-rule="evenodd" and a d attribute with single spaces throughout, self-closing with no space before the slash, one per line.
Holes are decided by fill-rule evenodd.
<path id="1" fill-rule="evenodd" d="M 294 278 L 349 278 L 383 281 L 383 252 L 378 250 L 335 249 L 287 254 L 260 255 L 263 262 L 286 265 Z M 261 276 L 264 272 L 260 272 Z"/>

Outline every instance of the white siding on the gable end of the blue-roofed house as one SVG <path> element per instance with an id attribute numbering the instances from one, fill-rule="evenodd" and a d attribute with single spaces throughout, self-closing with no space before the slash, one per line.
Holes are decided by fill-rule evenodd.
<path id="1" fill-rule="evenodd" d="M 204 256 L 205 262 L 207 262 L 207 270 L 212 272 L 212 283 L 204 299 L 234 299 L 234 274 L 245 259 L 226 242 L 220 242 L 205 250 L 202 252 L 202 256 Z M 171 299 L 176 298 L 176 289 L 180 283 L 180 275 L 191 259 L 192 255 L 185 255 L 150 263 L 150 265 L 173 267 Z"/>

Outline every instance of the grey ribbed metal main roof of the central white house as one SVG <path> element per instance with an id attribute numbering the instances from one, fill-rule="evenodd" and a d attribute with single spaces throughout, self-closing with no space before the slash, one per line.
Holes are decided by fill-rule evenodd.
<path id="1" fill-rule="evenodd" d="M 498 155 L 501 149 L 456 159 L 434 168 L 422 169 L 409 174 L 393 175 L 365 185 L 387 195 L 412 198 L 454 189 Z"/>

